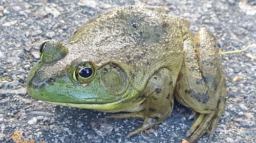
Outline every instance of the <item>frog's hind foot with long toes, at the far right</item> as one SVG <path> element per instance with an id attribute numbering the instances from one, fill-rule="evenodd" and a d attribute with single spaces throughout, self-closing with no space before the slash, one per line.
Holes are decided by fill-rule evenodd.
<path id="1" fill-rule="evenodd" d="M 220 98 L 218 106 L 214 112 L 209 114 L 199 113 L 199 116 L 195 120 L 194 124 L 186 133 L 186 137 L 190 136 L 188 141 L 192 143 L 206 132 L 208 133 L 208 139 L 211 140 L 224 110 L 225 98 Z"/>

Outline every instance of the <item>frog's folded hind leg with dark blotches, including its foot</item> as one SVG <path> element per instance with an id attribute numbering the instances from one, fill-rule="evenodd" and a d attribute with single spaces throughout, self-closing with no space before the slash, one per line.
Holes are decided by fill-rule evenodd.
<path id="1" fill-rule="evenodd" d="M 188 141 L 194 142 L 206 132 L 211 138 L 225 109 L 227 93 L 219 51 L 206 28 L 201 28 L 194 40 L 189 36 L 184 41 L 184 51 L 175 97 L 199 114 L 186 134 Z"/>

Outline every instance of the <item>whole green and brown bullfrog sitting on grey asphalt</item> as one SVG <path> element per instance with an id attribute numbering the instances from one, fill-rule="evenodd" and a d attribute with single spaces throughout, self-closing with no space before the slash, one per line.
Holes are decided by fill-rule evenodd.
<path id="1" fill-rule="evenodd" d="M 174 98 L 192 108 L 189 142 L 212 137 L 225 109 L 225 75 L 214 36 L 161 7 L 106 10 L 77 29 L 67 43 L 39 47 L 27 91 L 61 106 L 114 113 L 108 118 L 143 120 L 127 137 L 170 116 Z"/>

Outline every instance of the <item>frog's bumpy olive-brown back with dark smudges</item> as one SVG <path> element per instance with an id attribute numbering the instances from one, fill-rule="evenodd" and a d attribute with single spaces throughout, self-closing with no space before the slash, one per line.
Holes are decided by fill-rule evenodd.
<path id="1" fill-rule="evenodd" d="M 103 12 L 77 30 L 70 41 L 80 46 L 70 51 L 97 66 L 117 63 L 135 84 L 144 86 L 158 69 L 177 66 L 188 31 L 185 19 L 150 9 L 129 6 Z"/>

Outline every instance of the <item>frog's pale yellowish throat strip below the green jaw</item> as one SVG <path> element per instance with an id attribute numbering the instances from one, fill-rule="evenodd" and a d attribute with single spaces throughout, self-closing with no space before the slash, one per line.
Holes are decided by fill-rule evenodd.
<path id="1" fill-rule="evenodd" d="M 125 110 L 126 108 L 131 108 L 131 103 L 137 99 L 139 92 L 135 89 L 129 89 L 125 92 L 124 98 L 120 99 L 119 101 L 112 102 L 112 103 L 63 103 L 63 102 L 52 102 L 52 101 L 45 101 L 50 104 L 60 105 L 60 106 L 69 106 L 69 107 L 76 107 L 76 108 L 86 108 L 86 109 L 94 109 L 99 111 L 106 111 L 106 112 L 117 112 Z M 141 102 L 134 103 L 134 105 L 139 105 Z"/>

